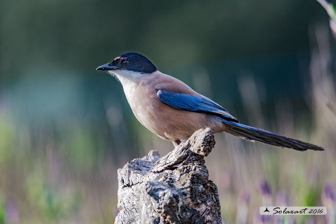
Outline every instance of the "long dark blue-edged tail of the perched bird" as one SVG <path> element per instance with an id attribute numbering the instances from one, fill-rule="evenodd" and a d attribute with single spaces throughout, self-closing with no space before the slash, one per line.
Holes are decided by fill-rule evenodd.
<path id="1" fill-rule="evenodd" d="M 245 140 L 249 141 L 256 140 L 270 145 L 293 148 L 299 151 L 305 151 L 307 149 L 320 150 L 320 151 L 324 150 L 324 148 L 320 146 L 309 144 L 307 142 L 299 141 L 293 138 L 288 138 L 286 136 L 278 135 L 259 128 L 253 128 L 247 125 L 227 121 L 224 119 L 222 122 L 232 127 L 231 129 L 226 130 L 225 131 L 226 133 L 235 135 Z"/>

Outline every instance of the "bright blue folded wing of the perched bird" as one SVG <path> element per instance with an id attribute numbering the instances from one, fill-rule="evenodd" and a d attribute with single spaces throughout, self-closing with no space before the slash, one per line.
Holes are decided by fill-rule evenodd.
<path id="1" fill-rule="evenodd" d="M 226 109 L 205 96 L 192 96 L 184 93 L 174 93 L 158 90 L 157 97 L 164 103 L 175 108 L 217 114 L 228 121 L 239 122 Z"/>

